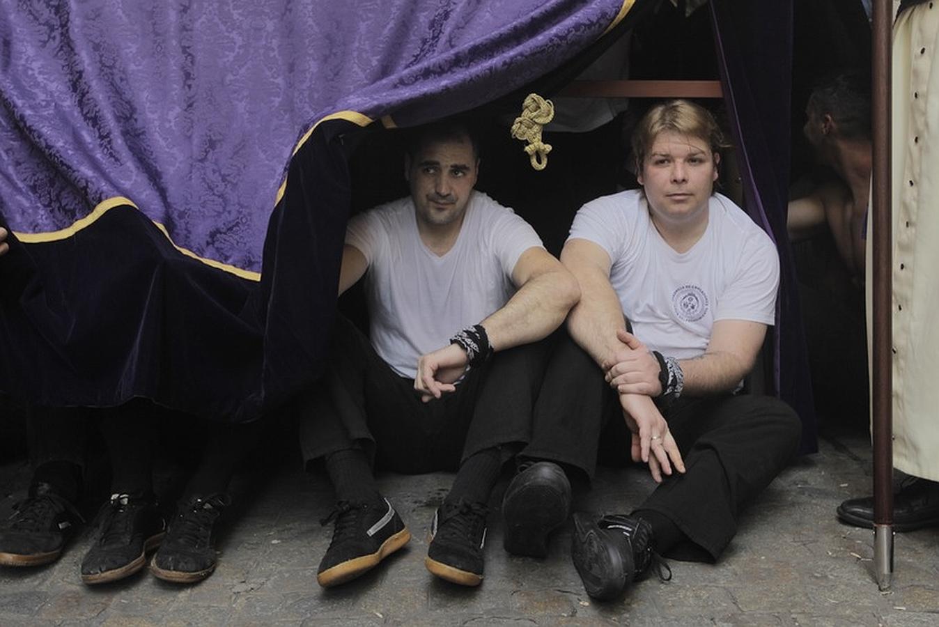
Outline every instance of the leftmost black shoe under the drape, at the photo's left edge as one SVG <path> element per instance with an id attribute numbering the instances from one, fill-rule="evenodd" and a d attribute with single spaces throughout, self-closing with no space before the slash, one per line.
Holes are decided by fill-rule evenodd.
<path id="1" fill-rule="evenodd" d="M 0 565 L 41 566 L 54 562 L 75 534 L 82 516 L 49 483 L 30 487 L 0 528 Z"/>

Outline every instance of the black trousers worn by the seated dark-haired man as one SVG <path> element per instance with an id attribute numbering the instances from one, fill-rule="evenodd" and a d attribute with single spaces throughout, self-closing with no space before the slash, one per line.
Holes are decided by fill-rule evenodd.
<path id="1" fill-rule="evenodd" d="M 514 453 L 531 438 L 545 358 L 543 343 L 501 351 L 471 369 L 456 391 L 423 403 L 413 379 L 395 373 L 340 316 L 328 372 L 292 409 L 304 460 L 362 448 L 378 467 L 417 474 L 455 470 L 492 447 Z"/>

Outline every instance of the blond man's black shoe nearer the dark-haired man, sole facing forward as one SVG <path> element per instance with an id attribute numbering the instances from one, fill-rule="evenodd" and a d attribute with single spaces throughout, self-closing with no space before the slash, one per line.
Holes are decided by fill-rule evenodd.
<path id="1" fill-rule="evenodd" d="M 564 524 L 570 511 L 571 482 L 561 466 L 551 462 L 523 466 L 502 499 L 502 545 L 513 555 L 544 558 L 548 536 Z"/>

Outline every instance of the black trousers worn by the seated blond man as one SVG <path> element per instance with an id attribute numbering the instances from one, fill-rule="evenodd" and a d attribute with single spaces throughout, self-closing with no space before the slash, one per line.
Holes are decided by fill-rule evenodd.
<path id="1" fill-rule="evenodd" d="M 702 557 L 716 559 L 736 533 L 741 506 L 792 459 L 801 421 L 777 398 L 747 394 L 683 397 L 663 416 L 686 471 L 665 479 L 636 509 L 668 516 L 703 549 Z M 547 365 L 532 432 L 522 455 L 573 466 L 591 478 L 601 438 L 605 458 L 629 460 L 630 434 L 617 394 L 567 336 Z"/>

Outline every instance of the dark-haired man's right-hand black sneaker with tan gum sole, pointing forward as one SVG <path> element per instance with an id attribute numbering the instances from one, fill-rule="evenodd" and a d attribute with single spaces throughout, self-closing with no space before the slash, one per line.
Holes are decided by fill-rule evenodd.
<path id="1" fill-rule="evenodd" d="M 427 570 L 460 586 L 479 586 L 487 513 L 482 503 L 443 501 L 430 524 L 430 545 L 423 561 Z"/>

